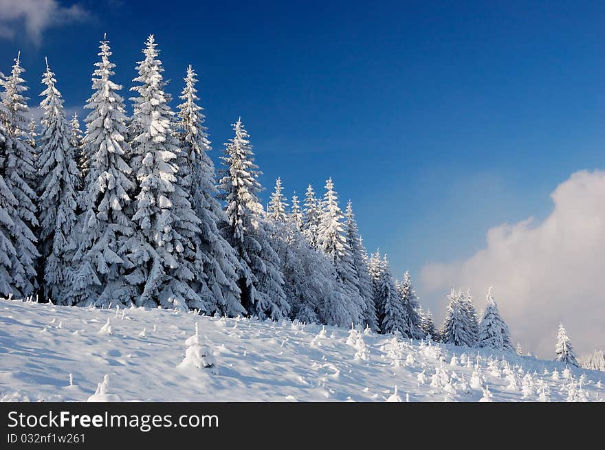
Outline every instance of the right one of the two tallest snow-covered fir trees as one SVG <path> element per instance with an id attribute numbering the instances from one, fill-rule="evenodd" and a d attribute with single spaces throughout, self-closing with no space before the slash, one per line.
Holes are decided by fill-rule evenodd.
<path id="1" fill-rule="evenodd" d="M 162 61 L 151 34 L 142 51 L 144 59 L 137 65 L 137 83 L 131 91 L 131 164 L 136 168 L 137 194 L 132 220 L 140 241 L 140 259 L 135 281 L 142 284 L 142 294 L 135 304 L 164 308 L 211 307 L 192 289 L 192 280 L 202 273 L 199 257 L 199 223 L 183 188 L 189 167 L 179 166 L 179 140 L 173 129 L 173 111 L 164 93 Z M 180 158 L 179 158 L 180 157 Z M 156 303 L 157 302 L 157 303 Z"/>

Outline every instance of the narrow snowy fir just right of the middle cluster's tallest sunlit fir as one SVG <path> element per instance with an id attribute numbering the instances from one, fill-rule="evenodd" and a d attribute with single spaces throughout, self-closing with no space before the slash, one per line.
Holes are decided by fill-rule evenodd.
<path id="1" fill-rule="evenodd" d="M 378 331 L 378 318 L 376 315 L 376 306 L 374 303 L 374 292 L 372 278 L 366 263 L 366 251 L 362 245 L 362 239 L 359 234 L 355 214 L 353 214 L 353 204 L 347 202 L 347 245 L 351 250 L 351 261 L 353 269 L 357 275 L 357 288 L 363 300 L 363 317 L 364 324 L 369 326 L 371 330 Z"/>

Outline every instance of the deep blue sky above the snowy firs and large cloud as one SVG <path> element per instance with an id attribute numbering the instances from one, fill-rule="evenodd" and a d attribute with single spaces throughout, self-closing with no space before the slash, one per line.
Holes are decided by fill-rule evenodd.
<path id="1" fill-rule="evenodd" d="M 104 32 L 128 97 L 153 33 L 168 91 L 197 70 L 215 161 L 241 115 L 265 199 L 278 176 L 301 196 L 333 177 L 397 276 L 547 216 L 558 183 L 604 166 L 603 2 L 44 1 L 52 20 L 23 12 L 38 37 L 0 8 L 0 70 L 21 49 L 35 102 L 44 56 L 85 102 Z"/>

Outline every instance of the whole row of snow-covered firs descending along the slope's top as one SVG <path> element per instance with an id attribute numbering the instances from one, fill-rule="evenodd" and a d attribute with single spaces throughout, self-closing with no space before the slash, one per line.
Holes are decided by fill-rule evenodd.
<path id="1" fill-rule="evenodd" d="M 299 199 L 278 178 L 263 206 L 241 118 L 215 170 L 197 75 L 186 69 L 173 111 L 153 35 L 135 67 L 131 115 L 111 80 L 109 41 L 99 49 L 82 128 L 65 117 L 48 61 L 39 123 L 19 56 L 0 75 L 0 295 L 298 319 L 521 354 L 491 288 L 481 317 L 470 292 L 452 290 L 435 326 L 410 273 L 396 280 L 386 255 L 366 252 L 353 203 L 343 210 L 332 179 Z M 563 326 L 556 353 L 579 365 Z M 604 370 L 603 355 L 585 363 Z"/>

